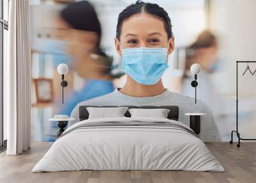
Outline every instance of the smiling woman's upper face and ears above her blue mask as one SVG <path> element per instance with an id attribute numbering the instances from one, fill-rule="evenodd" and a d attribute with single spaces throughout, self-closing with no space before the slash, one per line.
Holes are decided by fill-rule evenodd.
<path id="1" fill-rule="evenodd" d="M 169 44 L 169 47 L 168 47 Z M 120 35 L 122 49 L 137 47 L 168 47 L 168 54 L 174 49 L 174 38 L 168 40 L 164 22 L 148 13 L 139 13 L 125 19 Z M 122 56 L 118 39 L 115 38 L 116 51 Z"/>

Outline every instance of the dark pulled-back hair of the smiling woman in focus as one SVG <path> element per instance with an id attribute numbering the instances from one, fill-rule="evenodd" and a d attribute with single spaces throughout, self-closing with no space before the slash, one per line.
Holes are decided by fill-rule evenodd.
<path id="1" fill-rule="evenodd" d="M 120 40 L 122 23 L 124 22 L 124 20 L 128 19 L 132 15 L 135 15 L 141 12 L 146 12 L 150 15 L 155 15 L 161 18 L 161 20 L 163 20 L 164 22 L 164 28 L 166 30 L 168 39 L 173 36 L 171 19 L 168 16 L 168 13 L 162 7 L 160 7 L 158 4 L 144 3 L 143 1 L 136 1 L 135 4 L 131 4 L 127 6 L 118 15 L 118 22 L 116 26 L 116 38 L 118 38 L 118 40 Z"/>

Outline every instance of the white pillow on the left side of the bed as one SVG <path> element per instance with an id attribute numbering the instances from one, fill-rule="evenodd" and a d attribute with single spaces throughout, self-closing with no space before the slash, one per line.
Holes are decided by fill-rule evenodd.
<path id="1" fill-rule="evenodd" d="M 86 107 L 89 119 L 125 117 L 128 107 Z"/>

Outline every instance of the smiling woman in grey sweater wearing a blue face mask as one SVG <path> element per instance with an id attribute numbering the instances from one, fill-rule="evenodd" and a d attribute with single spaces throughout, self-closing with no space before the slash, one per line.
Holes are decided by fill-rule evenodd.
<path id="1" fill-rule="evenodd" d="M 127 6 L 118 17 L 115 38 L 116 51 L 122 57 L 122 68 L 127 81 L 114 92 L 77 104 L 72 118 L 79 118 L 79 106 L 179 106 L 180 122 L 189 125 L 185 113 L 206 113 L 201 120 L 200 138 L 204 141 L 218 141 L 220 134 L 204 102 L 164 88 L 161 76 L 168 67 L 168 55 L 174 49 L 172 24 L 168 13 L 157 4 L 137 1 Z M 192 88 L 191 88 L 192 90 Z M 69 125 L 72 125 L 70 123 Z"/>

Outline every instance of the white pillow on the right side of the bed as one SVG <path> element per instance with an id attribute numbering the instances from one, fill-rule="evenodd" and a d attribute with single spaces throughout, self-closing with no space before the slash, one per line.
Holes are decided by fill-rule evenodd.
<path id="1" fill-rule="evenodd" d="M 145 117 L 145 118 L 167 118 L 170 109 L 128 109 L 131 113 L 131 118 Z"/>

